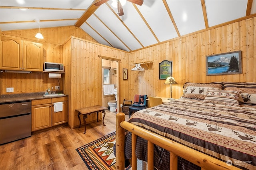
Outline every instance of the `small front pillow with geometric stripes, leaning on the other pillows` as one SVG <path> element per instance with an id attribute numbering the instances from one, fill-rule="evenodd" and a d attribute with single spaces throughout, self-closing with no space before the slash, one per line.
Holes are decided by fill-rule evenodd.
<path id="1" fill-rule="evenodd" d="M 240 92 L 233 90 L 208 90 L 203 102 L 239 106 Z"/>

